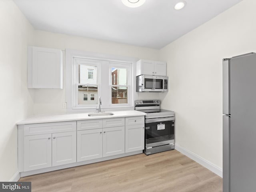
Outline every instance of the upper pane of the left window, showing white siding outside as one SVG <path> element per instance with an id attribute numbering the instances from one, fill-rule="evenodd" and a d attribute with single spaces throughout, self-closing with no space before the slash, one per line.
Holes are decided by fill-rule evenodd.
<path id="1" fill-rule="evenodd" d="M 97 66 L 79 64 L 79 83 L 97 84 Z"/>

